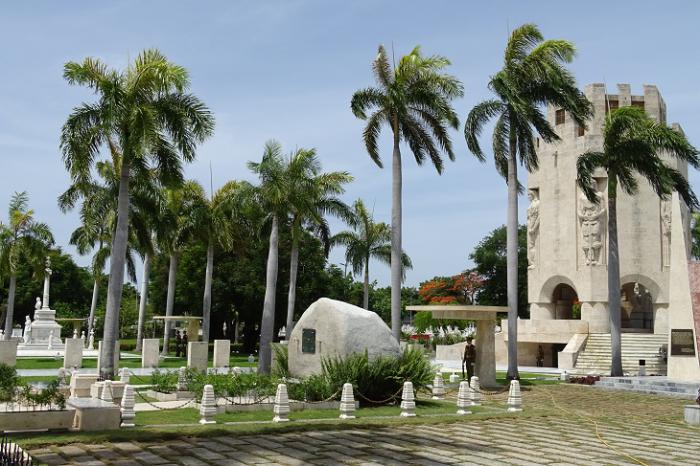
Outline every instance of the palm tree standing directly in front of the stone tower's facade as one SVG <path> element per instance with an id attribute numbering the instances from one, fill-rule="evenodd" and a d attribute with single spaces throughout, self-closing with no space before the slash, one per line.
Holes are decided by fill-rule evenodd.
<path id="1" fill-rule="evenodd" d="M 611 373 L 622 376 L 620 256 L 617 238 L 617 192 L 637 193 L 639 178 L 646 180 L 662 198 L 673 191 L 692 208 L 698 200 L 688 180 L 666 165 L 659 154 L 700 166 L 698 151 L 680 132 L 657 123 L 643 109 L 621 107 L 610 112 L 603 127 L 602 151 L 581 154 L 577 162 L 578 185 L 586 197 L 600 202 L 594 172 L 608 175 L 608 309 L 610 312 Z"/>

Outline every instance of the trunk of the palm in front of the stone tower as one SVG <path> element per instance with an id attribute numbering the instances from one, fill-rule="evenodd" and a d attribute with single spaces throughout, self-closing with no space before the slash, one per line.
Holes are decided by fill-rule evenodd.
<path id="1" fill-rule="evenodd" d="M 620 315 L 620 254 L 617 244 L 617 183 L 608 183 L 608 312 L 610 313 L 610 375 L 622 374 L 622 336 Z"/>

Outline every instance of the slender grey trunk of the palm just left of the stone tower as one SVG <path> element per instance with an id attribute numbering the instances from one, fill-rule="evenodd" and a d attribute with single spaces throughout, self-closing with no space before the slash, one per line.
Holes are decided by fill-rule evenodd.
<path id="1" fill-rule="evenodd" d="M 518 160 L 511 129 L 508 157 L 508 219 L 506 223 L 506 281 L 508 286 L 508 380 L 518 374 Z"/>

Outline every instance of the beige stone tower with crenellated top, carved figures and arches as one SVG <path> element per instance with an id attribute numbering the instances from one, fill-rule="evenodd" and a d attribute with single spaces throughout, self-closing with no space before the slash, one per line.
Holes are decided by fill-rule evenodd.
<path id="1" fill-rule="evenodd" d="M 589 202 L 576 185 L 576 161 L 586 151 L 600 151 L 608 111 L 638 106 L 666 122 L 666 104 L 656 86 L 632 95 L 628 84 L 606 94 L 603 84 L 586 86 L 594 107 L 588 128 L 565 111 L 547 109 L 547 119 L 561 141 L 535 142 L 540 166 L 528 177 L 528 301 L 532 321 L 569 319 L 588 323 L 589 333 L 609 333 L 607 305 L 607 178 L 596 180 L 601 201 Z M 674 127 L 680 130 L 678 125 Z M 687 164 L 669 158 L 682 173 Z M 682 206 L 687 228 L 687 208 Z M 618 192 L 620 283 L 623 331 L 668 333 L 670 200 L 661 200 L 645 181 L 630 197 Z M 542 322 L 544 324 L 544 322 Z"/>

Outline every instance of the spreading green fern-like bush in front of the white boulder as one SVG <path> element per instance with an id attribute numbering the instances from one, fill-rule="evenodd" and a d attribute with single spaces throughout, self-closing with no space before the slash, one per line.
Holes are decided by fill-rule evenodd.
<path id="1" fill-rule="evenodd" d="M 379 356 L 371 361 L 367 352 L 328 358 L 322 361 L 322 368 L 331 393 L 351 383 L 362 405 L 399 400 L 403 383 L 409 380 L 416 391 L 426 390 L 434 375 L 423 352 L 413 348 L 404 349 L 398 357 Z"/>

